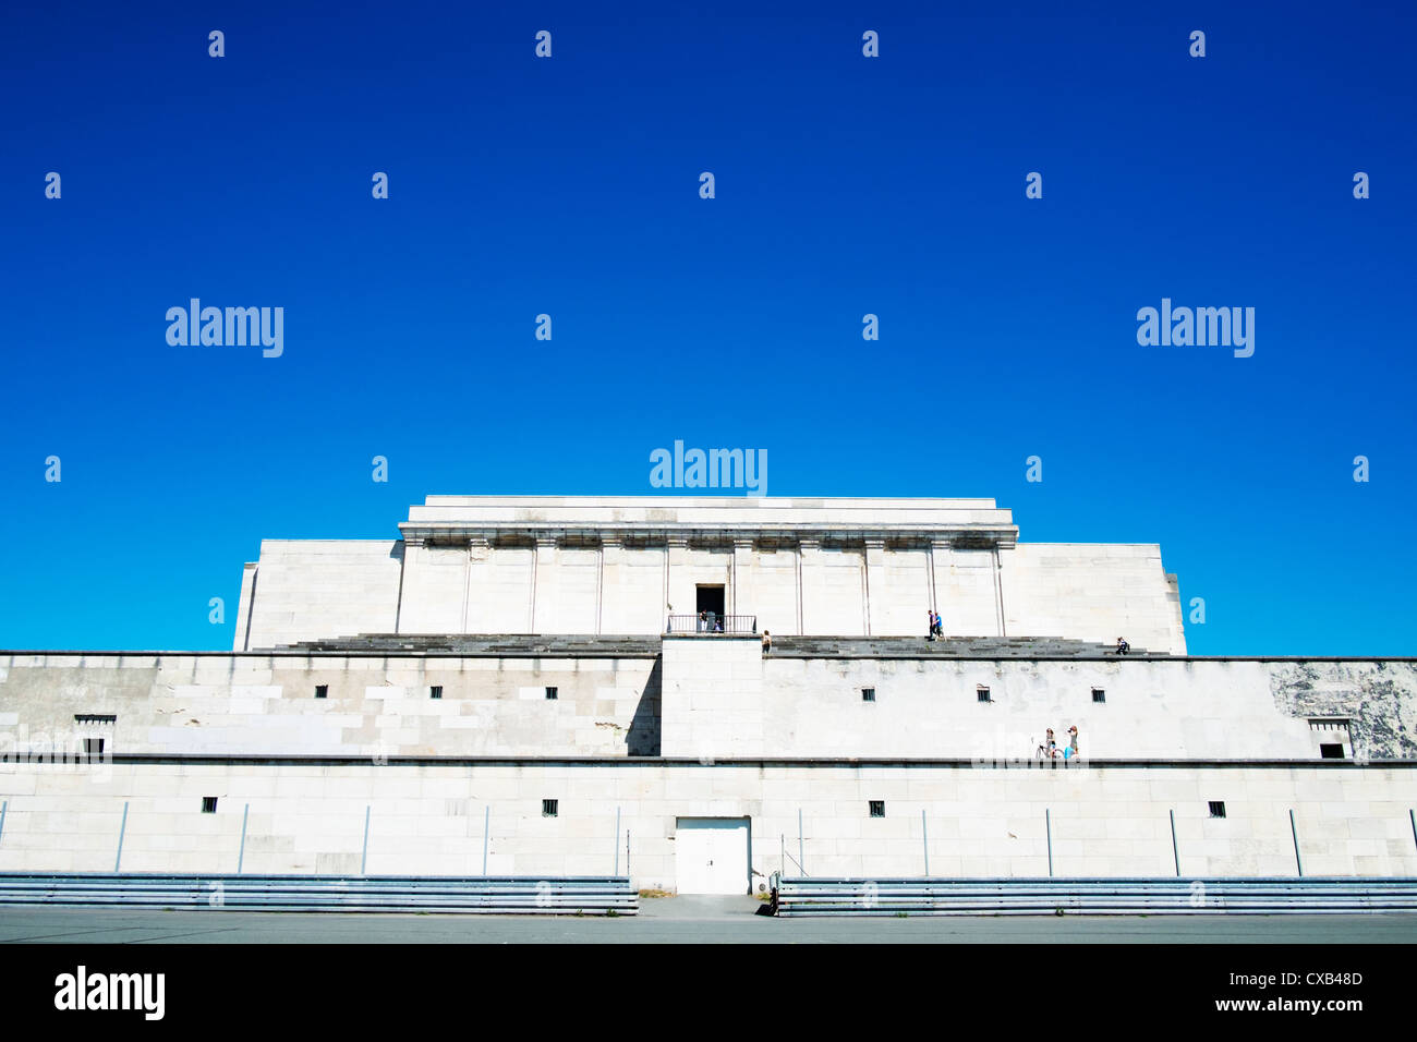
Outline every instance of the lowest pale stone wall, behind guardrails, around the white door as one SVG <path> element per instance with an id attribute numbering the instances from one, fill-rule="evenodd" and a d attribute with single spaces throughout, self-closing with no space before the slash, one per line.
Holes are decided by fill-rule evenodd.
<path id="1" fill-rule="evenodd" d="M 0 870 L 112 872 L 122 835 L 125 872 L 479 875 L 487 821 L 489 873 L 673 890 L 679 819 L 714 815 L 748 819 L 754 890 L 796 872 L 784 849 L 822 876 L 925 875 L 927 853 L 938 876 L 1046 876 L 1050 831 L 1064 878 L 1297 876 L 1295 836 L 1305 875 L 1417 876 L 1410 766 L 48 764 L 0 770 Z"/>

